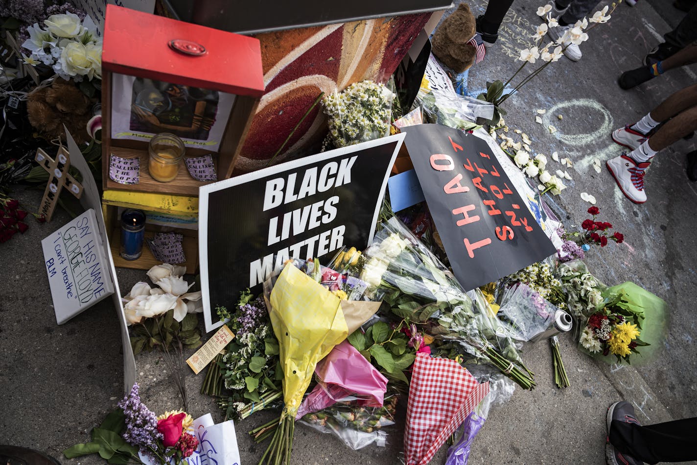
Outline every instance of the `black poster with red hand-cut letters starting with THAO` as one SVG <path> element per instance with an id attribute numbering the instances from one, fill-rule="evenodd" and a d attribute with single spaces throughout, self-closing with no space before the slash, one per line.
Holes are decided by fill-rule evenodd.
<path id="1" fill-rule="evenodd" d="M 487 142 L 438 124 L 402 131 L 445 253 L 465 289 L 556 251 Z"/>

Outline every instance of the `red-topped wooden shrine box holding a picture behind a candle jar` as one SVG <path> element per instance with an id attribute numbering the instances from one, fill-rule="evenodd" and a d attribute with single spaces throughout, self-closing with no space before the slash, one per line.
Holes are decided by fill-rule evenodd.
<path id="1" fill-rule="evenodd" d="M 211 154 L 217 180 L 232 175 L 263 94 L 256 38 L 107 5 L 102 46 L 104 189 L 199 195 L 210 182 L 185 163 L 171 182 L 148 173 L 148 141 L 174 133 L 185 156 Z M 138 184 L 109 178 L 109 159 L 139 157 Z M 211 181 L 212 182 L 212 181 Z"/>

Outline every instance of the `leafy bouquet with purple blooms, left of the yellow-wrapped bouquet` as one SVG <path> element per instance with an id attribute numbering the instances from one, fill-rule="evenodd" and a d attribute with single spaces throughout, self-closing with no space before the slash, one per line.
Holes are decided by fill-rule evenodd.
<path id="1" fill-rule="evenodd" d="M 227 325 L 236 338 L 221 357 L 220 378 L 209 380 L 207 374 L 204 386 L 209 388 L 206 392 L 215 394 L 215 387 L 222 381 L 228 393 L 218 406 L 225 411 L 225 419 L 233 415 L 244 419 L 281 397 L 283 371 L 279 368 L 278 341 L 263 297 L 254 299 L 248 289 L 240 294 L 235 313 L 224 307 L 217 307 L 217 312 L 221 319 L 229 319 Z M 213 377 L 215 370 L 208 371 Z"/>

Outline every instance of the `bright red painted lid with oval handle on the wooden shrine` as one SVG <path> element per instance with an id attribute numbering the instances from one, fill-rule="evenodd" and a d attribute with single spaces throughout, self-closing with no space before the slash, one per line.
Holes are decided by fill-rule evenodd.
<path id="1" fill-rule="evenodd" d="M 259 39 L 111 4 L 102 68 L 236 95 L 264 89 Z"/>

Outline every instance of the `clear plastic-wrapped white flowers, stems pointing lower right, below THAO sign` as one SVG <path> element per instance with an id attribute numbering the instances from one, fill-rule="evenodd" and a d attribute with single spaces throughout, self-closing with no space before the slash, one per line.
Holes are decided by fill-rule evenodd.
<path id="1" fill-rule="evenodd" d="M 397 317 L 424 325 L 431 336 L 458 344 L 469 355 L 465 363 L 488 362 L 532 389 L 530 372 L 484 295 L 473 294 L 473 304 L 452 272 L 399 219 L 381 226 L 365 251 L 365 295 L 386 302 Z"/>

